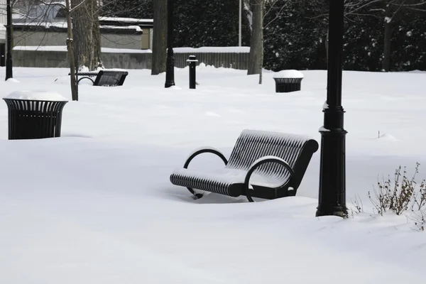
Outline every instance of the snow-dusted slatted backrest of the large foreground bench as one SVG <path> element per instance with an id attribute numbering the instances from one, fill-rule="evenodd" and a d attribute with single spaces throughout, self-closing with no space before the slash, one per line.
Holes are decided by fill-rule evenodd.
<path id="1" fill-rule="evenodd" d="M 248 170 L 258 158 L 274 155 L 283 158 L 295 170 L 297 178 L 292 182 L 298 186 L 317 149 L 317 141 L 307 136 L 244 130 L 236 141 L 226 168 Z M 276 163 L 261 165 L 254 173 L 283 182 L 290 180 L 288 171 Z"/>

